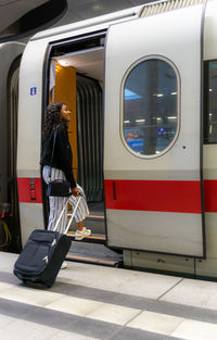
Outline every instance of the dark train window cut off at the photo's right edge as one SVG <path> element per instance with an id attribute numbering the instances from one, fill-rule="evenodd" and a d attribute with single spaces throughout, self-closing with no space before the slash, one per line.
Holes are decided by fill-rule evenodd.
<path id="1" fill-rule="evenodd" d="M 204 70 L 204 142 L 217 143 L 217 60 Z"/>

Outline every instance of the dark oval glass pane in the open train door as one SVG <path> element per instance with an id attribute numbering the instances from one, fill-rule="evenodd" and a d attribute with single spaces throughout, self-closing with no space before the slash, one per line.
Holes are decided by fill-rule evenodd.
<path id="1" fill-rule="evenodd" d="M 169 148 L 178 129 L 177 75 L 161 59 L 137 64 L 124 84 L 123 137 L 138 155 Z"/>

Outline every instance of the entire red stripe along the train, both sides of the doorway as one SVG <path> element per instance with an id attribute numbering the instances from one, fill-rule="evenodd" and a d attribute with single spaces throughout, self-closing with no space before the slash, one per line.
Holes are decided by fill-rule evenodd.
<path id="1" fill-rule="evenodd" d="M 106 209 L 201 213 L 200 181 L 106 179 Z M 41 178 L 17 178 L 18 201 L 42 203 Z M 204 180 L 205 212 L 217 213 L 217 180 Z"/>

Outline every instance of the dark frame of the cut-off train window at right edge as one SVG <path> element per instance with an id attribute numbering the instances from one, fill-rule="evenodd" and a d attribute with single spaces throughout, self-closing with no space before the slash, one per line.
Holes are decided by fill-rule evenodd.
<path id="1" fill-rule="evenodd" d="M 210 59 L 204 61 L 204 113 L 203 113 L 203 143 L 204 144 L 217 144 L 217 134 L 216 139 L 212 140 L 209 136 L 210 130 L 210 122 L 209 122 L 209 114 L 210 114 L 210 108 L 209 108 L 209 98 L 212 92 L 209 91 L 209 65 L 210 63 L 215 62 L 217 64 L 217 59 Z"/>

